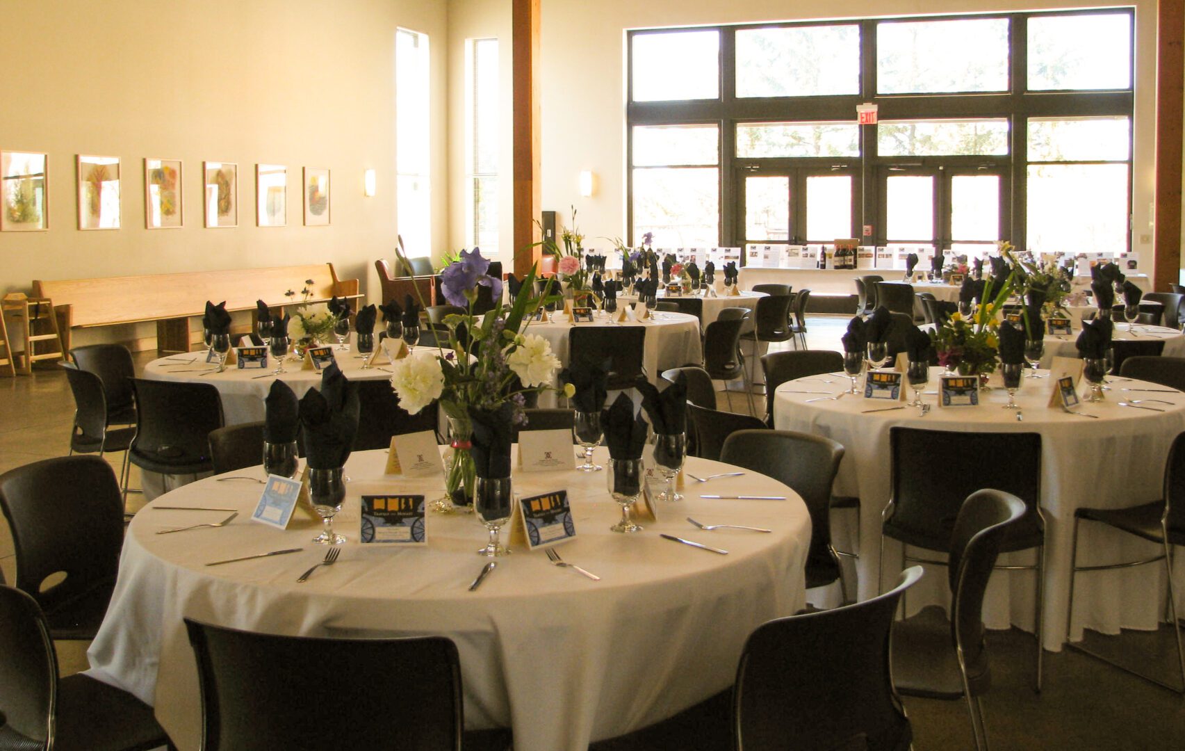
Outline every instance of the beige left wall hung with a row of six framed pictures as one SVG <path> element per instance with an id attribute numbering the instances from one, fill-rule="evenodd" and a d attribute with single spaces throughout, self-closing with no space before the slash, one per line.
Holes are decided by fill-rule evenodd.
<path id="1" fill-rule="evenodd" d="M 331 261 L 339 276 L 360 278 L 377 295 L 373 261 L 393 256 L 398 230 L 397 26 L 430 38 L 430 116 L 438 134 L 433 234 L 447 238 L 444 2 L 2 5 L 0 148 L 49 153 L 50 230 L 0 233 L 0 289 L 27 291 L 33 279 Z M 122 159 L 122 229 L 77 229 L 77 153 Z M 184 160 L 182 229 L 145 229 L 145 157 Z M 237 228 L 204 228 L 203 160 L 238 163 Z M 254 174 L 261 161 L 288 165 L 287 227 L 256 227 Z M 302 225 L 302 166 L 332 170 L 329 227 Z M 363 196 L 366 168 L 377 171 L 374 198 Z M 100 336 L 127 341 L 152 331 L 121 326 Z"/>

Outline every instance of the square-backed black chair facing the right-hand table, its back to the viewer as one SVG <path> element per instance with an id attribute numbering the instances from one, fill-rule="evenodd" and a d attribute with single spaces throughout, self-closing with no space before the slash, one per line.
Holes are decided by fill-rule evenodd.
<path id="1" fill-rule="evenodd" d="M 994 488 L 1020 498 L 1029 509 L 1008 529 L 1001 553 L 1037 548 L 1031 566 L 999 566 L 1004 571 L 1032 571 L 1036 580 L 1037 669 L 1040 690 L 1042 630 L 1045 623 L 1045 517 L 1040 501 L 1039 433 L 965 433 L 960 431 L 889 429 L 892 495 L 880 513 L 880 564 L 885 539 L 925 550 L 950 554 L 950 535 L 963 499 L 981 488 Z M 905 556 L 907 561 L 946 566 L 935 558 Z"/>

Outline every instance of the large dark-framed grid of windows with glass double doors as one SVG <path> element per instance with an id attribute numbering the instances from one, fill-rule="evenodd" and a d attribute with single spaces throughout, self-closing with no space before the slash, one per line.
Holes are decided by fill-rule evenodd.
<path id="1" fill-rule="evenodd" d="M 1132 38 L 1130 8 L 633 31 L 630 241 L 1127 250 Z"/>

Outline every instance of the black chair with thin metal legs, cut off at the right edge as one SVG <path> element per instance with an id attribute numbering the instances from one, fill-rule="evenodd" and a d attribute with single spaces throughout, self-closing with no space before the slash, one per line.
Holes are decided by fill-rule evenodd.
<path id="1" fill-rule="evenodd" d="M 1139 561 L 1123 561 L 1119 564 L 1078 566 L 1078 523 L 1083 520 L 1106 524 L 1113 529 L 1135 535 L 1141 540 L 1154 542 L 1161 546 L 1162 553 L 1154 558 Z M 1165 561 L 1165 575 L 1168 579 L 1168 613 L 1173 623 L 1173 631 L 1177 636 L 1177 660 L 1180 663 L 1181 685 L 1180 687 L 1165 683 L 1151 675 L 1134 670 L 1127 666 L 1113 662 L 1107 657 L 1094 653 L 1085 647 L 1070 644 L 1093 657 L 1115 666 L 1133 675 L 1138 675 L 1147 681 L 1164 686 L 1170 690 L 1185 694 L 1185 648 L 1181 647 L 1181 625 L 1177 618 L 1177 591 L 1173 588 L 1173 546 L 1185 546 L 1185 433 L 1173 440 L 1172 448 L 1168 450 L 1168 460 L 1165 463 L 1165 492 L 1164 497 L 1152 503 L 1128 507 L 1123 509 L 1095 509 L 1078 508 L 1074 511 L 1074 537 L 1071 542 L 1070 556 L 1070 604 L 1065 613 L 1065 631 L 1070 632 L 1071 617 L 1074 616 L 1074 579 L 1080 571 L 1100 571 L 1109 568 L 1128 568 L 1130 566 L 1142 566 Z"/>

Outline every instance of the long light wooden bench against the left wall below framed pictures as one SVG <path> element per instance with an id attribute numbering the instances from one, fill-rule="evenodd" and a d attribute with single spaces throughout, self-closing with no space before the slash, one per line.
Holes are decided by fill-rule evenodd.
<path id="1" fill-rule="evenodd" d="M 239 268 L 181 274 L 109 276 L 33 281 L 33 295 L 51 298 L 62 332 L 62 345 L 70 349 L 71 329 L 114 326 L 156 322 L 156 346 L 165 351 L 190 351 L 193 337 L 190 318 L 205 313 L 206 300 L 226 300 L 228 311 L 255 310 L 256 300 L 271 307 L 302 300 L 305 280 L 312 291 L 309 303 L 332 297 L 357 299 L 358 280 L 338 279 L 333 263 Z M 295 297 L 284 293 L 294 291 Z"/>

